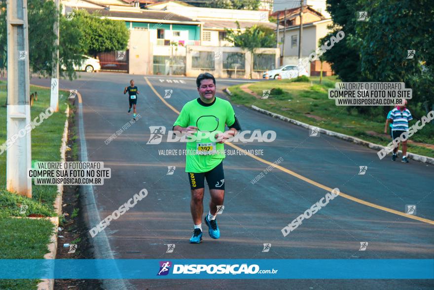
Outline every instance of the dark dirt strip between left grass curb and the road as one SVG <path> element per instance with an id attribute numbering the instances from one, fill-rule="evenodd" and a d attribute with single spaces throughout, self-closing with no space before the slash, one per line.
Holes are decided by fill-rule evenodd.
<path id="1" fill-rule="evenodd" d="M 79 161 L 77 156 L 73 156 L 74 148 L 78 143 L 73 140 L 75 131 L 75 120 L 70 118 L 68 132 L 68 147 L 71 150 L 66 152 L 66 161 Z M 77 152 L 77 151 L 75 151 Z M 59 227 L 63 228 L 57 234 L 57 254 L 56 259 L 94 259 L 92 244 L 89 241 L 88 229 L 82 214 L 78 186 L 64 186 L 62 196 L 62 213 L 64 217 Z M 74 253 L 69 253 L 70 248 L 64 248 L 64 244 L 75 244 L 77 249 Z M 97 279 L 56 279 L 54 282 L 55 290 L 102 290 L 102 283 Z"/>

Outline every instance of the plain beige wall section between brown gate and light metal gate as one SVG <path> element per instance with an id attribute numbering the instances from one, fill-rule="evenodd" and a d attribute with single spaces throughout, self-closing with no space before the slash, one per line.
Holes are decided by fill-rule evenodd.
<path id="1" fill-rule="evenodd" d="M 152 45 L 149 42 L 149 32 L 145 30 L 130 30 L 128 43 L 129 70 L 132 75 L 147 75 L 152 73 Z"/>

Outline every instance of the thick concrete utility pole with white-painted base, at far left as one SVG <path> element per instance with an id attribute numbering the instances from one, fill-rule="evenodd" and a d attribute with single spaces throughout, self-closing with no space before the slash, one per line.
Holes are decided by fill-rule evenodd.
<path id="1" fill-rule="evenodd" d="M 6 5 L 6 140 L 15 140 L 6 151 L 6 190 L 31 198 L 32 178 L 27 178 L 27 168 L 32 166 L 32 142 L 25 129 L 30 124 L 27 0 L 7 0 Z"/>

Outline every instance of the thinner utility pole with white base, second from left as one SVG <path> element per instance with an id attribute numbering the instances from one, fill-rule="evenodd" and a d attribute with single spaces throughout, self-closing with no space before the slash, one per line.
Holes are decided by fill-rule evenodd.
<path id="1" fill-rule="evenodd" d="M 54 0 L 56 5 L 56 20 L 54 21 L 53 31 L 56 35 L 54 41 L 53 52 L 53 66 L 51 68 L 51 94 L 50 94 L 50 107 L 54 109 L 54 112 L 59 111 L 59 0 Z"/>

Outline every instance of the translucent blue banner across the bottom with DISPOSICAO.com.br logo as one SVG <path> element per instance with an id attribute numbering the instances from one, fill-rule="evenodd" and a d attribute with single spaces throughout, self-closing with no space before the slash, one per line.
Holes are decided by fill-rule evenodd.
<path id="1" fill-rule="evenodd" d="M 434 259 L 10 259 L 0 279 L 434 279 Z"/>

